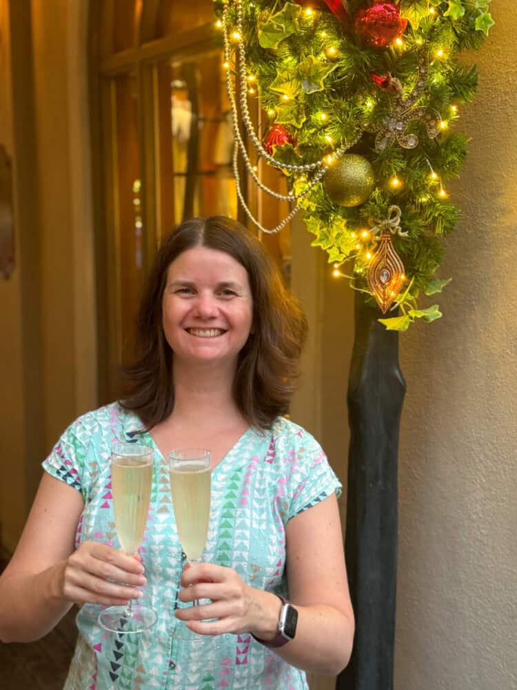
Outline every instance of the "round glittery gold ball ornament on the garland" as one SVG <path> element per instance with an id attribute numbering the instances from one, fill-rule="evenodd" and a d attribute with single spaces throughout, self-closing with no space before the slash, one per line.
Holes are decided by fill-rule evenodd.
<path id="1" fill-rule="evenodd" d="M 363 156 L 345 153 L 325 172 L 323 184 L 336 204 L 359 206 L 372 194 L 374 168 Z"/>

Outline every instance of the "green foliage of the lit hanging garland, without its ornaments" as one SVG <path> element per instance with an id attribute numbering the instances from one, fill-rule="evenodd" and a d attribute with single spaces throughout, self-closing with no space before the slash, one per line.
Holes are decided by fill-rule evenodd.
<path id="1" fill-rule="evenodd" d="M 403 45 L 379 50 L 322 9 L 323 3 L 307 14 L 305 3 L 243 0 L 247 69 L 255 77 L 263 110 L 269 112 L 263 134 L 280 124 L 295 141 L 274 147 L 278 163 L 312 164 L 344 146 L 367 158 L 374 169 L 374 190 L 361 206 L 336 204 L 327 194 L 325 177 L 301 199 L 312 245 L 325 250 L 330 262 L 347 264 L 343 272 L 353 276 L 352 286 L 367 293 L 367 253 L 375 251 L 376 242 L 365 229 L 385 219 L 389 206 L 401 208 L 407 236 L 394 235 L 394 247 L 407 282 L 396 298 L 398 315 L 379 319 L 390 330 L 405 331 L 417 320 L 432 322 L 441 316 L 438 305 L 423 308 L 418 299 L 440 293 L 450 281 L 436 277 L 443 237 L 460 217 L 447 182 L 459 175 L 467 155 L 467 137 L 456 127 L 478 83 L 476 67 L 460 65 L 457 57 L 460 50 L 482 45 L 494 23 L 489 1 L 394 0 L 408 20 Z M 221 14 L 227 7 L 235 23 L 234 2 L 216 0 L 216 10 Z M 351 17 L 370 6 L 367 0 L 347 2 Z M 403 148 L 394 137 L 386 148 L 376 148 L 376 132 L 396 115 L 398 101 L 396 88 L 381 88 L 372 74 L 391 75 L 400 83 L 401 97 L 409 99 L 404 134 L 418 137 L 416 148 Z M 429 136 L 427 116 L 438 117 L 443 125 L 436 137 Z M 311 173 L 283 171 L 294 193 L 305 190 Z M 394 177 L 398 186 L 391 184 Z"/>

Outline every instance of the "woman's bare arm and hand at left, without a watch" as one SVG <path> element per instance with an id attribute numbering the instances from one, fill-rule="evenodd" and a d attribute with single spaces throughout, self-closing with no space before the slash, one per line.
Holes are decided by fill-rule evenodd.
<path id="1" fill-rule="evenodd" d="M 0 640 L 30 642 L 48 633 L 73 602 L 125 604 L 145 584 L 134 558 L 97 542 L 74 551 L 83 511 L 79 491 L 43 474 L 17 549 L 0 576 Z"/>

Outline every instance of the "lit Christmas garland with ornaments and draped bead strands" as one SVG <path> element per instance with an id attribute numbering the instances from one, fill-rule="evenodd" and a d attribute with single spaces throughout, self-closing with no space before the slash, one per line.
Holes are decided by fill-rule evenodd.
<path id="1" fill-rule="evenodd" d="M 225 34 L 225 68 L 237 155 L 266 193 L 303 210 L 314 246 L 334 273 L 374 297 L 386 328 L 441 316 L 418 308 L 441 292 L 441 238 L 459 210 L 447 182 L 457 177 L 467 138 L 454 131 L 477 86 L 475 67 L 457 61 L 479 48 L 494 21 L 490 0 L 215 0 Z M 250 99 L 267 115 L 254 132 Z M 267 190 L 247 152 L 288 177 L 287 195 Z M 248 215 L 262 228 L 239 199 Z M 349 268 L 343 268 L 349 264 Z"/>

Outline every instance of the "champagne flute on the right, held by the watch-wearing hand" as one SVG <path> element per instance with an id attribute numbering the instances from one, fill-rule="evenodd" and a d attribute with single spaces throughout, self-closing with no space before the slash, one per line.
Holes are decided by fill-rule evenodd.
<path id="1" fill-rule="evenodd" d="M 187 562 L 201 562 L 210 519 L 211 457 L 201 448 L 179 448 L 169 454 L 172 509 Z M 199 604 L 194 601 L 194 606 Z M 191 639 L 185 624 L 177 637 Z"/>

